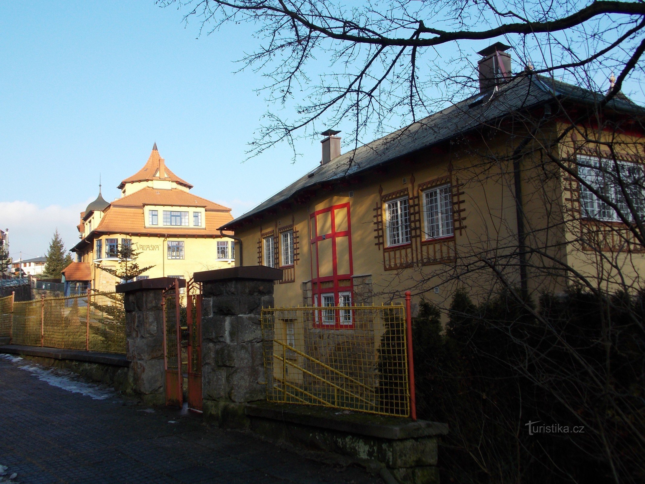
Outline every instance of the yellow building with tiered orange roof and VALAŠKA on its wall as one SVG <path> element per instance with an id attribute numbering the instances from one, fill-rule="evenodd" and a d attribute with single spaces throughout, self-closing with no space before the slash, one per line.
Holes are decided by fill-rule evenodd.
<path id="1" fill-rule="evenodd" d="M 146 164 L 119 185 L 121 197 L 101 196 L 81 212 L 81 241 L 72 248 L 77 261 L 64 270 L 69 291 L 114 290 L 115 277 L 101 267 L 117 267 L 116 251 L 131 243 L 140 267 L 154 266 L 139 278 L 183 277 L 231 267 L 233 240 L 218 227 L 232 219 L 231 209 L 198 197 L 159 156 L 155 143 Z M 88 280 L 86 280 L 88 279 Z"/>

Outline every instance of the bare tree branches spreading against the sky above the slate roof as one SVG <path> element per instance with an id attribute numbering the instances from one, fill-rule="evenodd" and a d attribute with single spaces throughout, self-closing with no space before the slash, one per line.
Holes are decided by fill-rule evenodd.
<path id="1" fill-rule="evenodd" d="M 374 132 L 419 121 L 477 85 L 472 54 L 501 39 L 536 74 L 575 83 L 617 77 L 606 99 L 642 74 L 645 5 L 640 2 L 390 0 L 159 0 L 177 5 L 200 32 L 229 23 L 255 28 L 243 57 L 266 79 L 266 98 L 295 116 L 268 112 L 250 155 L 293 143 L 316 126 L 345 126 L 355 146 Z M 520 69 L 522 70 L 522 69 Z M 635 83 L 638 85 L 638 83 Z M 594 89 L 597 90 L 597 89 Z M 284 111 L 283 111 L 284 112 Z"/>

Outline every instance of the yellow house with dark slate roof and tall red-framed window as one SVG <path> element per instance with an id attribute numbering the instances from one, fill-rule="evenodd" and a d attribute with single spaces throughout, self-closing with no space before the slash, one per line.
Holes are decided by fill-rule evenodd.
<path id="1" fill-rule="evenodd" d="M 324 132 L 318 166 L 223 224 L 242 241 L 238 265 L 283 269 L 277 307 L 401 301 L 406 290 L 413 304 L 446 305 L 460 286 L 535 301 L 573 281 L 613 290 L 645 274 L 642 245 L 590 190 L 610 148 L 621 170 L 642 173 L 634 121 L 645 108 L 617 96 L 599 126 L 592 92 L 510 78 L 503 50 L 480 53 L 480 92 L 413 125 L 344 154 L 338 132 Z M 490 79 L 500 58 L 506 72 Z M 581 119 L 574 130 L 570 119 Z M 587 185 L 550 154 L 589 165 Z"/>

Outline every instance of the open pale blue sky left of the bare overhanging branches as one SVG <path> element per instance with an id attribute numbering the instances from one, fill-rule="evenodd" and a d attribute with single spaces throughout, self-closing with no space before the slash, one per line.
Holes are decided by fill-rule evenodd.
<path id="1" fill-rule="evenodd" d="M 252 49 L 247 26 L 203 35 L 152 0 L 0 3 L 0 226 L 12 256 L 39 256 L 57 227 L 77 241 L 79 212 L 161 156 L 199 196 L 241 215 L 320 160 L 304 141 L 245 161 L 268 106 L 253 72 L 232 74 Z"/>

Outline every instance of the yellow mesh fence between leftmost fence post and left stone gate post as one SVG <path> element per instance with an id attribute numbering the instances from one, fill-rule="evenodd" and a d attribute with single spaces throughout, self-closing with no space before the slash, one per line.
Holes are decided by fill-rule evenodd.
<path id="1" fill-rule="evenodd" d="M 125 353 L 123 295 L 98 292 L 14 303 L 12 343 Z"/>

